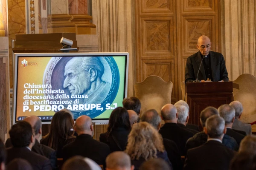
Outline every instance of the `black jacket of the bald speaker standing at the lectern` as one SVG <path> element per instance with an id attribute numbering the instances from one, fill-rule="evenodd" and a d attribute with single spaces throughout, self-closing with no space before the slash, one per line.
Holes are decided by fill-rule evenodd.
<path id="1" fill-rule="evenodd" d="M 224 80 L 228 81 L 227 77 L 227 68 L 225 65 L 224 57 L 221 53 L 210 51 L 210 62 L 212 68 L 212 82 L 218 82 Z M 199 70 L 199 66 L 201 64 L 201 54 L 200 51 L 189 56 L 186 61 L 185 68 L 185 83 L 190 80 L 195 80 L 196 75 Z M 198 73 L 198 80 L 206 80 L 206 75 L 204 71 L 204 65 L 202 64 L 200 67 L 200 71 Z"/>

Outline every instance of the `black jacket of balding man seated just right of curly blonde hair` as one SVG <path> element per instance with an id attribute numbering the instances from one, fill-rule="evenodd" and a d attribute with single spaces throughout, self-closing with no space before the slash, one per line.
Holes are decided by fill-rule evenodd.
<path id="1" fill-rule="evenodd" d="M 177 123 L 166 123 L 161 127 L 159 133 L 163 138 L 170 139 L 177 144 L 177 147 L 182 156 L 185 155 L 185 145 L 186 141 L 193 136 L 193 133 L 186 129 L 180 128 Z"/>

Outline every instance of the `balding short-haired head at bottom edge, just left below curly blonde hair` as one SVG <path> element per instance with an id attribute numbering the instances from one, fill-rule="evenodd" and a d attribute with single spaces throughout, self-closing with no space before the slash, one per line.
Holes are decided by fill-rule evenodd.
<path id="1" fill-rule="evenodd" d="M 106 170 L 134 170 L 130 156 L 122 151 L 109 154 L 106 159 L 106 166 Z"/>

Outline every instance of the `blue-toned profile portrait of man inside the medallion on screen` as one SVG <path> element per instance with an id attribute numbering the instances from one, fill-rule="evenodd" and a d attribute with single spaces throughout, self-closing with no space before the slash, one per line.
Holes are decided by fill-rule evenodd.
<path id="1" fill-rule="evenodd" d="M 105 68 L 99 57 L 73 57 L 64 70 L 63 88 L 71 95 L 88 96 L 80 104 L 98 104 L 108 96 L 111 84 L 102 80 Z"/>

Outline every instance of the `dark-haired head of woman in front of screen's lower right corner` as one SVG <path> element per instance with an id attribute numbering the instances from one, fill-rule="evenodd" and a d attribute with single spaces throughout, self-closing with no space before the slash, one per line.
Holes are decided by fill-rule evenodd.
<path id="1" fill-rule="evenodd" d="M 112 130 L 118 127 L 124 127 L 127 130 L 131 130 L 131 124 L 129 120 L 129 114 L 125 108 L 115 108 L 109 117 L 108 121 L 108 134 L 112 133 Z"/>

